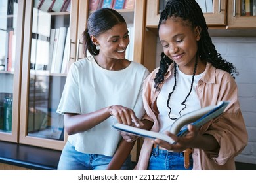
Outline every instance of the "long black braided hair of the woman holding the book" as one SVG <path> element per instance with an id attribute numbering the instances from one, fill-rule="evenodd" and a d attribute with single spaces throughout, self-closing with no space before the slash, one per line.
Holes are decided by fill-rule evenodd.
<path id="1" fill-rule="evenodd" d="M 161 12 L 160 20 L 158 24 L 158 30 L 160 28 L 160 25 L 163 24 L 163 22 L 165 22 L 168 18 L 171 18 L 171 17 L 179 17 L 179 18 L 182 18 L 182 20 L 184 21 L 188 20 L 192 27 L 198 26 L 201 28 L 201 32 L 200 32 L 201 39 L 198 41 L 198 52 L 196 54 L 196 63 L 194 66 L 194 73 L 192 76 L 192 84 L 190 87 L 190 92 L 188 93 L 184 101 L 181 103 L 182 105 L 184 105 L 184 108 L 186 108 L 185 102 L 192 91 L 194 75 L 196 74 L 198 57 L 200 57 L 202 60 L 205 60 L 211 63 L 214 67 L 230 73 L 230 75 L 233 77 L 234 77 L 234 73 L 236 73 L 236 67 L 234 67 L 232 63 L 229 63 L 228 61 L 223 59 L 221 57 L 221 54 L 219 54 L 215 49 L 215 46 L 211 41 L 211 37 L 209 36 L 209 33 L 208 33 L 208 27 L 207 27 L 205 18 L 203 16 L 202 9 L 198 5 L 198 3 L 196 3 L 195 0 L 168 1 L 165 9 Z M 163 82 L 164 75 L 165 73 L 167 73 L 167 69 L 171 65 L 171 63 L 173 63 L 173 60 L 165 56 L 165 54 L 162 52 L 160 67 L 158 69 L 158 73 L 156 73 L 156 76 L 154 78 L 154 82 L 155 82 L 154 88 L 156 88 L 156 90 L 159 90 L 158 86 L 159 84 L 161 84 L 161 82 Z M 167 107 L 170 110 L 169 118 L 171 118 L 170 117 L 171 107 L 169 107 L 169 100 L 170 100 L 171 94 L 175 90 L 175 86 L 177 83 L 176 82 L 177 81 L 176 63 L 174 63 L 174 65 L 175 65 L 174 67 L 175 85 L 173 86 L 173 91 L 169 93 L 168 100 L 167 100 Z M 182 108 L 181 110 L 184 110 L 184 108 Z M 181 111 L 179 113 L 181 115 Z"/>

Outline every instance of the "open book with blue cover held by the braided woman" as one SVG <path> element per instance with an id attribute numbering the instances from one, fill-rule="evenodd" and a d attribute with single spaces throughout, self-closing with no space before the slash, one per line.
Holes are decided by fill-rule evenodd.
<path id="1" fill-rule="evenodd" d="M 188 124 L 192 124 L 196 127 L 200 127 L 203 124 L 209 122 L 213 118 L 216 118 L 223 114 L 224 109 L 228 106 L 229 101 L 220 101 L 217 105 L 209 105 L 207 107 L 200 108 L 198 110 L 194 110 L 192 112 L 188 112 L 184 114 L 171 125 L 170 132 L 177 136 L 184 136 L 188 133 Z M 127 133 L 133 133 L 135 135 L 139 135 L 141 137 L 149 137 L 152 139 L 161 139 L 163 141 L 167 141 L 170 144 L 175 143 L 171 137 L 165 135 L 163 133 L 158 133 L 155 131 L 149 131 L 146 129 L 139 129 L 137 127 L 131 127 L 129 125 L 124 124 L 114 124 L 112 125 L 115 129 L 119 131 L 125 131 Z"/>

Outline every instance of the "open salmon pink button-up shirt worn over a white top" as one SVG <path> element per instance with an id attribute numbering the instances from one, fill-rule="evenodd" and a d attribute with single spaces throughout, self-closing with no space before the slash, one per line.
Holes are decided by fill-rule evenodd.
<path id="1" fill-rule="evenodd" d="M 170 65 L 165 80 L 171 76 L 173 63 Z M 159 85 L 160 90 L 154 88 L 154 78 L 158 68 L 155 69 L 144 81 L 143 102 L 146 109 L 144 118 L 154 122 L 152 131 L 159 131 L 158 107 L 156 99 L 160 93 L 165 80 Z M 236 169 L 234 158 L 244 150 L 247 145 L 248 136 L 244 118 L 238 101 L 238 88 L 232 76 L 221 69 L 216 69 L 207 63 L 205 72 L 196 86 L 196 93 L 200 100 L 201 107 L 217 105 L 219 101 L 230 101 L 224 114 L 203 125 L 199 133 L 209 134 L 219 142 L 220 148 L 214 152 L 207 152 L 201 149 L 193 149 L 193 169 L 215 170 L 215 169 Z M 144 139 L 140 150 L 140 156 L 135 169 L 147 169 L 148 161 L 152 150 L 152 139 Z"/>

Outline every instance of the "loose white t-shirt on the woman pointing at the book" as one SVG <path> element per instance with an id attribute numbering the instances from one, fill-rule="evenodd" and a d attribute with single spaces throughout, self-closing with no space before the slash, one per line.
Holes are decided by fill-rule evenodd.
<path id="1" fill-rule="evenodd" d="M 68 72 L 57 112 L 87 114 L 110 105 L 123 105 L 142 118 L 142 84 L 148 74 L 146 67 L 133 61 L 120 71 L 103 69 L 93 57 L 76 61 Z M 116 122 L 110 117 L 83 133 L 70 135 L 68 141 L 79 152 L 113 156 L 121 140 L 119 131 L 112 128 Z"/>

